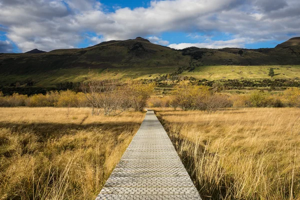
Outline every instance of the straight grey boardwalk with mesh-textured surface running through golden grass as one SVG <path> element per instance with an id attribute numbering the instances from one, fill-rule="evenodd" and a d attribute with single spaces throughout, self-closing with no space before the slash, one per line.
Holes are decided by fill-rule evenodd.
<path id="1" fill-rule="evenodd" d="M 96 199 L 201 199 L 153 110 Z"/>

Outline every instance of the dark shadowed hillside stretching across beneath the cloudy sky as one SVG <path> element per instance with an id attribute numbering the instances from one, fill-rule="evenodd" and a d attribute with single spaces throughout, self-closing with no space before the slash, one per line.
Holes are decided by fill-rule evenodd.
<path id="1" fill-rule="evenodd" d="M 56 49 L 42 53 L 1 53 L 0 87 L 57 87 L 57 84 L 67 81 L 85 80 L 90 69 L 102 79 L 153 78 L 173 72 L 201 78 L 201 73 L 196 71 L 200 71 L 202 66 L 289 64 L 300 64 L 300 45 L 287 48 L 189 47 L 175 50 L 137 37 L 105 41 L 87 48 Z M 221 71 L 217 70 L 217 66 L 214 68 L 215 73 Z M 295 77 L 294 73 L 290 76 L 286 74 L 285 78 Z M 216 77 L 223 76 L 219 74 Z M 225 76 L 234 77 L 230 74 Z M 247 75 L 247 78 L 260 77 Z"/>

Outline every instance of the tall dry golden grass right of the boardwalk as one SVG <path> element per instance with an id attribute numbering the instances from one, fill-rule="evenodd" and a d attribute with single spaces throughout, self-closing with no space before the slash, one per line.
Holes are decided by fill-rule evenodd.
<path id="1" fill-rule="evenodd" d="M 157 108 L 203 199 L 300 199 L 300 109 Z"/>

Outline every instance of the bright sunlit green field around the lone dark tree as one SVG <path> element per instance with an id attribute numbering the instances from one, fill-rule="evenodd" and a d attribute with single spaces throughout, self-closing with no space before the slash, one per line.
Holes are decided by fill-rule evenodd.
<path id="1" fill-rule="evenodd" d="M 261 66 L 197 66 L 192 71 L 185 71 L 181 75 L 192 76 L 197 79 L 207 80 L 217 79 L 263 79 L 271 78 L 268 76 L 269 68 L 274 68 L 275 78 L 295 78 L 300 77 L 300 65 L 261 65 Z"/>

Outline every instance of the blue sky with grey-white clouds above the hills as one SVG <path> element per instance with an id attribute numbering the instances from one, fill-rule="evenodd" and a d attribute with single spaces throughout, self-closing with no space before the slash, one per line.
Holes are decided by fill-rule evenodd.
<path id="1" fill-rule="evenodd" d="M 180 49 L 274 47 L 300 36 L 299 0 L 0 0 L 0 52 L 141 36 Z"/>

